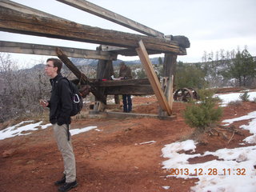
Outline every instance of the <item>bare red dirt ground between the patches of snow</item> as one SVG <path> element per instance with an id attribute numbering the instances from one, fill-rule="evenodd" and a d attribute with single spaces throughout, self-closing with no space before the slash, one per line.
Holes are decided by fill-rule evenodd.
<path id="1" fill-rule="evenodd" d="M 134 112 L 158 114 L 155 98 L 134 97 Z M 143 103 L 143 105 L 142 105 Z M 148 105 L 146 105 L 148 104 Z M 75 119 L 71 127 L 98 126 L 72 137 L 77 162 L 79 186 L 71 191 L 82 192 L 143 192 L 190 191 L 197 179 L 166 178 L 162 169 L 162 148 L 166 144 L 186 139 L 192 129 L 182 118 L 185 104 L 174 102 L 174 120 L 157 118 L 83 118 Z M 256 103 L 243 102 L 229 106 L 222 119 L 235 118 L 256 110 Z M 235 126 L 247 123 L 237 122 Z M 196 153 L 219 148 L 232 148 L 249 135 L 234 134 L 230 140 L 221 135 L 210 136 L 208 142 L 198 144 Z M 226 133 L 231 138 L 232 133 Z M 142 142 L 155 141 L 140 145 Z M 54 181 L 62 177 L 62 157 L 55 144 L 52 129 L 0 141 L 0 191 L 58 191 Z M 213 157 L 191 159 L 191 163 L 205 162 Z M 164 190 L 162 186 L 170 186 Z"/>

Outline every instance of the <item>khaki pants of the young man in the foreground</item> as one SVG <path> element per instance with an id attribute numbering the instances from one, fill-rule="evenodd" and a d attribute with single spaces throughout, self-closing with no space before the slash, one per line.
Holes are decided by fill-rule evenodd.
<path id="1" fill-rule="evenodd" d="M 74 182 L 76 180 L 74 152 L 71 138 L 68 141 L 67 135 L 68 129 L 66 124 L 62 126 L 58 126 L 57 123 L 54 124 L 54 137 L 58 145 L 58 150 L 62 153 L 66 182 Z"/>

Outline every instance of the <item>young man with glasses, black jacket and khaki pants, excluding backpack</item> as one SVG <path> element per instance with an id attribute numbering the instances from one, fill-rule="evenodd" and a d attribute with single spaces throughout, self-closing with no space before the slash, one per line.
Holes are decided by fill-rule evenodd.
<path id="1" fill-rule="evenodd" d="M 50 101 L 40 101 L 43 107 L 50 108 L 50 122 L 54 127 L 54 138 L 58 150 L 62 153 L 64 162 L 64 175 L 54 184 L 59 191 L 68 191 L 76 186 L 76 168 L 73 147 L 70 141 L 69 126 L 72 110 L 70 84 L 62 79 L 62 62 L 58 58 L 48 58 L 45 72 L 50 77 L 52 86 Z"/>

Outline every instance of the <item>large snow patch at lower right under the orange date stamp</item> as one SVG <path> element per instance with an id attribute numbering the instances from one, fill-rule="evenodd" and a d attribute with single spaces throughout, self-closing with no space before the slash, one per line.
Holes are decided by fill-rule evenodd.
<path id="1" fill-rule="evenodd" d="M 256 111 L 239 118 L 226 119 L 226 126 L 233 122 L 249 120 L 248 125 L 240 126 L 253 134 L 244 139 L 245 142 L 256 143 Z M 204 154 L 191 154 L 195 151 L 193 140 L 174 142 L 162 148 L 162 156 L 169 158 L 162 162 L 163 169 L 170 170 L 168 177 L 198 178 L 196 186 L 191 187 L 196 192 L 255 192 L 256 190 L 256 146 L 246 146 L 234 149 L 206 151 Z M 184 151 L 187 151 L 186 154 Z M 190 153 L 189 153 L 190 152 Z M 189 164 L 188 159 L 214 155 L 221 160 Z M 174 170 L 174 171 L 172 171 Z"/>

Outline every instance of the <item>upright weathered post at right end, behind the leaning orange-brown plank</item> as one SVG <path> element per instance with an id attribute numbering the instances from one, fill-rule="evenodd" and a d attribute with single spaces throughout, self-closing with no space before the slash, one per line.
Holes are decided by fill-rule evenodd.
<path id="1" fill-rule="evenodd" d="M 163 62 L 163 78 L 162 78 L 162 90 L 166 96 L 167 102 L 172 110 L 173 107 L 173 90 L 174 90 L 174 77 L 176 72 L 177 55 L 165 54 Z M 159 107 L 158 115 L 161 117 L 167 116 L 166 111 L 163 111 Z"/>

